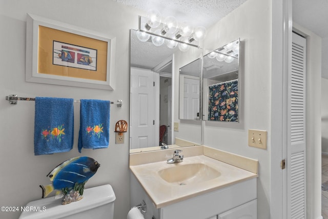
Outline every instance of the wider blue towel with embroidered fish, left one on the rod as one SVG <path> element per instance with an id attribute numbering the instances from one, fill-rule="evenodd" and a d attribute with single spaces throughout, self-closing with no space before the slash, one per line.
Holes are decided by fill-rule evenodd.
<path id="1" fill-rule="evenodd" d="M 67 152 L 73 148 L 74 99 L 35 97 L 34 154 Z"/>

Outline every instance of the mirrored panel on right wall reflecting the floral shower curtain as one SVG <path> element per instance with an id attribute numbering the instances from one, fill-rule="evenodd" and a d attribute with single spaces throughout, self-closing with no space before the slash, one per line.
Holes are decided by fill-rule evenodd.
<path id="1" fill-rule="evenodd" d="M 239 38 L 203 57 L 203 120 L 239 123 Z"/>

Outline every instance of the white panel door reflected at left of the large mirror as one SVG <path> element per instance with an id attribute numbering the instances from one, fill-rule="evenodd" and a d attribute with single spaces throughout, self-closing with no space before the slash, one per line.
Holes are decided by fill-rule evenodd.
<path id="1" fill-rule="evenodd" d="M 131 68 L 130 149 L 155 145 L 155 73 Z M 158 135 L 158 133 L 156 133 Z"/>

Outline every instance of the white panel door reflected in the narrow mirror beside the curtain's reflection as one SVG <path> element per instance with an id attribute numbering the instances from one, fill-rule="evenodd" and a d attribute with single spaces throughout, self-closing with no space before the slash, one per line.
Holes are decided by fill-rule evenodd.
<path id="1" fill-rule="evenodd" d="M 199 112 L 199 79 L 184 79 L 183 118 L 196 120 Z"/>

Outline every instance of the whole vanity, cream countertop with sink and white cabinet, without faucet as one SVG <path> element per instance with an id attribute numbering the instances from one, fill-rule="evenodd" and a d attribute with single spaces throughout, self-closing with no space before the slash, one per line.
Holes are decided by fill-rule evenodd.
<path id="1" fill-rule="evenodd" d="M 257 218 L 258 161 L 195 146 L 168 164 L 169 150 L 130 154 L 131 206 L 144 200 L 145 219 Z"/>

